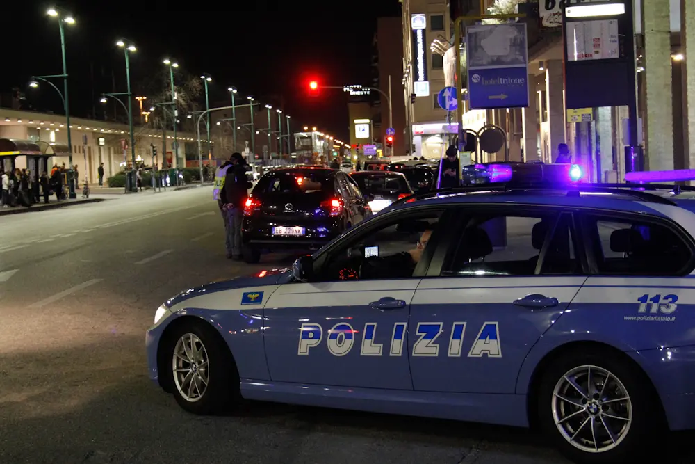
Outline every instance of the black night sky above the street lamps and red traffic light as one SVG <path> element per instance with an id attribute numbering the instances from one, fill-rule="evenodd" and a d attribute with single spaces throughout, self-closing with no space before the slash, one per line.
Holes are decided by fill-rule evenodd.
<path id="1" fill-rule="evenodd" d="M 163 72 L 162 61 L 170 57 L 181 72 L 213 77 L 211 106 L 229 105 L 227 88 L 236 86 L 241 99 L 253 95 L 262 104 L 281 104 L 293 118 L 293 131 L 316 125 L 339 138 L 348 136 L 345 95 L 322 90 L 311 98 L 307 83 L 318 78 L 327 86 L 368 85 L 376 19 L 400 16 L 398 0 L 284 2 L 294 7 L 246 12 L 174 11 L 149 1 L 111 3 L 113 10 L 102 1 L 27 3 L 33 5 L 3 17 L 0 92 L 19 87 L 37 111 L 63 111 L 54 90 L 27 86 L 31 75 L 62 72 L 58 24 L 46 15 L 56 6 L 76 19 L 74 26 L 65 25 L 72 115 L 88 117 L 96 110 L 103 117 L 99 96 L 114 91 L 113 77 L 115 91 L 126 90 L 123 52 L 115 47 L 125 38 L 138 47 L 131 57 L 136 95 L 147 95 L 152 76 Z M 204 106 L 204 97 L 199 103 Z"/>

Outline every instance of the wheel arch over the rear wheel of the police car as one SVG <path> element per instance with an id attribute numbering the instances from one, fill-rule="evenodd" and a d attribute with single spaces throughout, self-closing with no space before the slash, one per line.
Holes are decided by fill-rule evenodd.
<path id="1" fill-rule="evenodd" d="M 647 375 L 646 371 L 641 367 L 641 365 L 639 365 L 639 362 L 631 358 L 624 351 L 616 349 L 616 347 L 611 346 L 610 344 L 595 341 L 575 341 L 556 346 L 554 349 L 548 351 L 548 353 L 546 353 L 546 355 L 544 355 L 543 358 L 541 358 L 541 360 L 538 362 L 538 364 L 532 371 L 532 374 L 529 378 L 528 389 L 526 391 L 526 414 L 528 415 L 528 424 L 531 429 L 538 429 L 539 426 L 538 396 L 541 387 L 541 379 L 543 378 L 543 373 L 546 371 L 546 369 L 548 369 L 548 367 L 550 367 L 550 365 L 553 364 L 553 362 L 555 362 L 555 360 L 558 360 L 563 356 L 569 355 L 570 353 L 610 353 L 612 355 L 615 355 L 616 358 L 623 360 L 626 363 L 626 365 L 632 366 L 632 368 L 635 369 L 635 371 L 643 377 L 644 385 L 646 385 L 646 387 L 649 390 L 651 390 L 651 393 L 657 397 L 658 410 L 661 415 L 662 423 L 667 424 L 666 413 L 664 411 L 662 399 L 658 394 L 658 391 L 653 381 Z"/>

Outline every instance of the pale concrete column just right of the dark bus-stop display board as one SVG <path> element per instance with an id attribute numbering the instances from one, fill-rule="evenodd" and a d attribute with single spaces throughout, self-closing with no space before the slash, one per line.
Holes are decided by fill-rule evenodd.
<path id="1" fill-rule="evenodd" d="M 669 0 L 648 0 L 644 8 L 646 87 L 645 169 L 673 169 L 673 95 Z"/>

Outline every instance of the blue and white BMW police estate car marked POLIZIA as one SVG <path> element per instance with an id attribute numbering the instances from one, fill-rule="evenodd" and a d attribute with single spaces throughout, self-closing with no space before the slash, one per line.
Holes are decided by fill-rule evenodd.
<path id="1" fill-rule="evenodd" d="M 621 462 L 695 429 L 694 211 L 648 184 L 404 198 L 293 269 L 161 305 L 150 376 L 191 413 L 255 399 L 538 426 L 575 462 Z"/>

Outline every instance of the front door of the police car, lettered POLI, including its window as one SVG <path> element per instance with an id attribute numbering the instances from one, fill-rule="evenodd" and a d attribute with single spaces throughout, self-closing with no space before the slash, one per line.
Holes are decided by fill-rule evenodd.
<path id="1" fill-rule="evenodd" d="M 366 273 L 375 260 L 420 246 L 419 233 L 398 232 L 395 221 L 404 220 L 392 214 L 352 230 L 317 256 L 320 281 L 289 282 L 272 294 L 264 312 L 272 381 L 412 390 L 409 310 L 430 252 L 411 273 Z"/>

